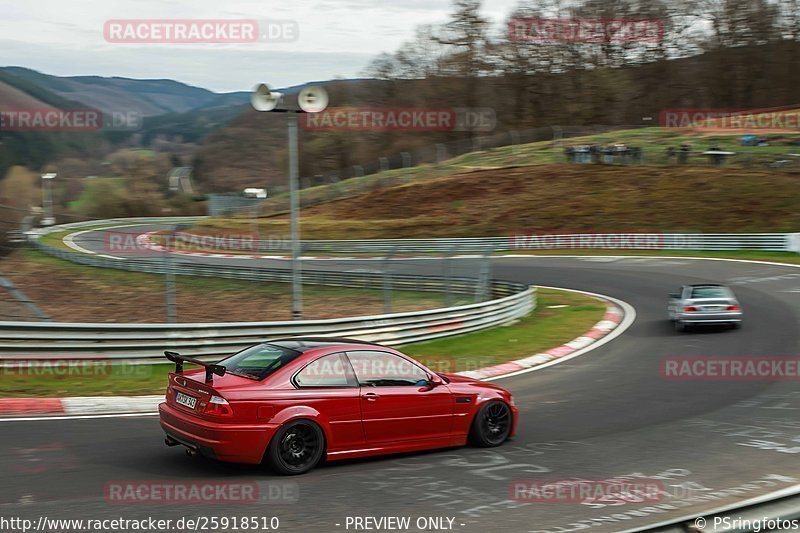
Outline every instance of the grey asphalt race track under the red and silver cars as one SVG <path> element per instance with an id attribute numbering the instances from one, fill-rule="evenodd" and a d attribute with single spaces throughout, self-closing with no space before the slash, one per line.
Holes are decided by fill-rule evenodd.
<path id="1" fill-rule="evenodd" d="M 76 242 L 102 253 L 96 232 Z M 365 265 L 328 261 L 311 268 Z M 403 268 L 425 266 L 409 262 Z M 539 257 L 496 259 L 493 276 L 606 294 L 636 309 L 633 325 L 604 346 L 499 380 L 521 410 L 517 437 L 500 448 L 332 463 L 285 478 L 167 448 L 157 417 L 3 421 L 0 515 L 277 516 L 284 531 L 353 531 L 348 517 L 367 516 L 408 516 L 410 530 L 417 531 L 420 517 L 448 517 L 454 519 L 452 530 L 465 532 L 620 531 L 800 483 L 797 381 L 673 381 L 661 376 L 660 366 L 668 356 L 800 354 L 800 269 L 712 260 Z M 745 311 L 742 329 L 673 331 L 666 320 L 667 294 L 683 283 L 703 281 L 733 286 Z M 660 501 L 510 500 L 511 484 L 518 480 L 626 475 L 662 483 Z M 119 505 L 104 497 L 106 484 L 119 480 L 212 479 L 256 483 L 262 501 Z"/>

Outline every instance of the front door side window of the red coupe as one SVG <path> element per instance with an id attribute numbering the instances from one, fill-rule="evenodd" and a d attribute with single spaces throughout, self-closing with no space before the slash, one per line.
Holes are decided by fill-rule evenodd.
<path id="1" fill-rule="evenodd" d="M 377 351 L 347 352 L 362 387 L 424 386 L 428 374 L 400 356 Z"/>

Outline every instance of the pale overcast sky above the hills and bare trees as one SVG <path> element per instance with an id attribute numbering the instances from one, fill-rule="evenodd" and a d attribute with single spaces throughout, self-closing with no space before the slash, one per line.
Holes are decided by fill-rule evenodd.
<path id="1" fill-rule="evenodd" d="M 485 0 L 499 27 L 517 0 Z M 447 20 L 450 0 L 0 0 L 0 65 L 59 76 L 169 78 L 217 92 L 355 77 L 420 24 Z M 109 20 L 294 20 L 295 42 L 111 43 Z"/>

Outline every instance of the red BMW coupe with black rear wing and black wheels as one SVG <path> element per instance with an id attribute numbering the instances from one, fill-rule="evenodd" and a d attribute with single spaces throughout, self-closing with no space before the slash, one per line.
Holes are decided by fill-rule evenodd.
<path id="1" fill-rule="evenodd" d="M 352 339 L 295 337 L 210 364 L 175 363 L 159 406 L 168 446 L 302 474 L 327 460 L 431 448 L 499 446 L 514 435 L 511 394 L 437 374 L 397 350 Z M 185 362 L 203 368 L 183 370 Z"/>

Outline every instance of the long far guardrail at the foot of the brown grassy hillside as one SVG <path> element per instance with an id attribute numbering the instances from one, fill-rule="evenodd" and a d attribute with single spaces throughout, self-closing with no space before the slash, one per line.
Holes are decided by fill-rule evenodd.
<path id="1" fill-rule="evenodd" d="M 185 242 L 192 242 L 191 233 L 178 235 Z M 302 249 L 304 252 L 327 253 L 493 253 L 557 249 L 797 251 L 792 246 L 792 239 L 797 239 L 793 235 L 798 234 L 569 233 L 441 239 L 306 240 L 302 242 Z M 224 240 L 215 242 L 214 246 L 218 252 L 225 250 Z M 253 241 L 251 246 L 253 251 L 290 250 L 288 241 L 282 240 Z"/>

